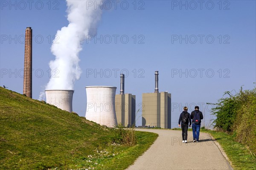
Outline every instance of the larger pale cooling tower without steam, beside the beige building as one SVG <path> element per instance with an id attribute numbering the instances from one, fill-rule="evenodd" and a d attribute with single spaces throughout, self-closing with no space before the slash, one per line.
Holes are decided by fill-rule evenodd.
<path id="1" fill-rule="evenodd" d="M 85 118 L 87 120 L 115 127 L 116 109 L 115 109 L 115 94 L 116 87 L 111 86 L 87 86 L 87 105 Z"/>

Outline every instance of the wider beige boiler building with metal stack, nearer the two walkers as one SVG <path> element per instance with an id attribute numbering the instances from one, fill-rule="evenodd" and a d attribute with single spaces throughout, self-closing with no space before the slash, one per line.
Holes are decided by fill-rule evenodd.
<path id="1" fill-rule="evenodd" d="M 154 93 L 142 94 L 142 125 L 171 128 L 171 94 L 158 89 L 158 71 L 155 71 Z"/>

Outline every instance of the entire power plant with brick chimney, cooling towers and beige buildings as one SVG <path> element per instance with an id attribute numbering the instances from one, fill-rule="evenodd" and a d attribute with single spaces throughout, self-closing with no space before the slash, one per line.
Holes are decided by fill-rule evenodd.
<path id="1" fill-rule="evenodd" d="M 23 94 L 32 98 L 32 29 L 26 28 Z M 154 93 L 142 94 L 142 127 L 171 128 L 171 94 L 158 89 L 158 71 L 155 71 Z M 125 75 L 120 75 L 120 94 L 113 86 L 87 86 L 85 118 L 108 127 L 136 124 L 136 96 L 125 94 Z M 45 90 L 46 102 L 72 112 L 73 90 Z"/>

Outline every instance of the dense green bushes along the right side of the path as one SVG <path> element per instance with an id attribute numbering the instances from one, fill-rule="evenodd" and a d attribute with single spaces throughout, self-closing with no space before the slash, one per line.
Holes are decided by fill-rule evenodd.
<path id="1" fill-rule="evenodd" d="M 236 94 L 226 91 L 212 109 L 215 128 L 230 133 L 237 142 L 246 144 L 256 157 L 256 87 Z"/>

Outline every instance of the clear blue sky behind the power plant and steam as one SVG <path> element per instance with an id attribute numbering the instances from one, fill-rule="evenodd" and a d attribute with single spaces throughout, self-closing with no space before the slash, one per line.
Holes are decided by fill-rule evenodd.
<path id="1" fill-rule="evenodd" d="M 33 98 L 38 99 L 49 81 L 53 37 L 68 25 L 67 6 L 64 0 L 20 2 L 0 1 L 0 85 L 22 93 L 24 34 L 32 27 Z M 136 95 L 137 109 L 142 93 L 154 92 L 154 71 L 159 71 L 160 91 L 172 94 L 172 127 L 185 105 L 190 111 L 201 106 L 207 124 L 212 117 L 207 102 L 241 85 L 254 87 L 256 1 L 116 2 L 103 3 L 98 39 L 85 41 L 79 54 L 83 73 L 74 86 L 73 111 L 80 116 L 86 111 L 85 86 L 116 86 L 119 94 L 121 71 L 128 73 L 125 93 Z"/>

